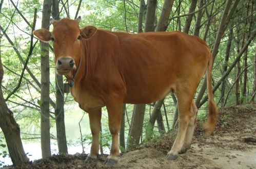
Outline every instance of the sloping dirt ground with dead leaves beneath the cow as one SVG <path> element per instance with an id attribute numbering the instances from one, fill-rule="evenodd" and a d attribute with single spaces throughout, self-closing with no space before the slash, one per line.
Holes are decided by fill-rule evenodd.
<path id="1" fill-rule="evenodd" d="M 108 168 L 256 168 L 256 104 L 220 110 L 218 124 L 205 136 L 198 121 L 191 149 L 174 161 L 164 158 L 173 139 L 163 136 L 146 147 L 124 153 Z M 107 168 L 106 155 L 85 163 L 87 155 L 56 155 L 16 168 Z M 6 167 L 13 168 L 13 167 Z"/>

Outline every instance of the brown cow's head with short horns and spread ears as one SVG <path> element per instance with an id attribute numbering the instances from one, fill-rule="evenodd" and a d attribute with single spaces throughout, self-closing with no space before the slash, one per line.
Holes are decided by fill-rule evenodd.
<path id="1" fill-rule="evenodd" d="M 83 38 L 90 38 L 96 31 L 95 27 L 89 26 L 80 29 L 77 19 L 64 18 L 62 20 L 51 19 L 53 31 L 38 29 L 33 34 L 40 40 L 48 43 L 53 41 L 55 55 L 55 69 L 60 75 L 71 75 L 76 70 L 81 58 L 81 45 Z"/>

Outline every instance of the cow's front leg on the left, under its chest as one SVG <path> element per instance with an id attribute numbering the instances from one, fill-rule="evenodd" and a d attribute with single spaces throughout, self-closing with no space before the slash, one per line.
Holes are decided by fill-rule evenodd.
<path id="1" fill-rule="evenodd" d="M 86 162 L 96 159 L 97 154 L 99 154 L 99 134 L 101 130 L 101 117 L 102 111 L 100 109 L 96 109 L 94 111 L 90 111 L 89 113 L 89 121 L 90 128 L 92 134 L 92 144 L 91 144 L 91 152 L 86 158 Z"/>

